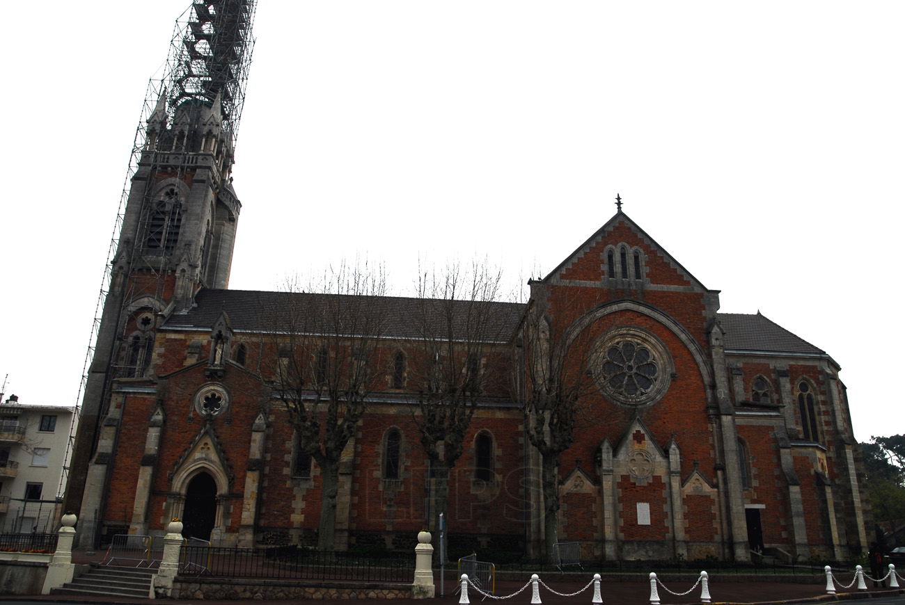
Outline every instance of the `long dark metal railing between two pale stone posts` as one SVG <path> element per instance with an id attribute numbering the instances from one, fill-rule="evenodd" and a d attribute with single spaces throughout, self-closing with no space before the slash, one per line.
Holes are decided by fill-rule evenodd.
<path id="1" fill-rule="evenodd" d="M 357 553 L 323 553 L 296 546 L 275 548 L 226 548 L 183 546 L 183 557 L 193 565 L 180 569 L 185 575 L 211 575 L 274 580 L 335 580 L 411 582 L 411 556 L 373 557 Z"/>

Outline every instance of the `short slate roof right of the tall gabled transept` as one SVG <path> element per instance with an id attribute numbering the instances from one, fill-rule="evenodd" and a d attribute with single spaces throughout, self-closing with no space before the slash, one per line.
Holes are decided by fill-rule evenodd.
<path id="1" fill-rule="evenodd" d="M 823 349 L 795 336 L 785 327 L 770 321 L 760 313 L 718 313 L 717 320 L 726 333 L 724 344 L 731 351 L 763 353 L 826 354 Z"/>

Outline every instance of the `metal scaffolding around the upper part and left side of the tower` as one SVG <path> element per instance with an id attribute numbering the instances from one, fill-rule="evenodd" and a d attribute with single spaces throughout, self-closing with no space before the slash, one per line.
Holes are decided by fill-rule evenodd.
<path id="1" fill-rule="evenodd" d="M 129 199 L 133 177 L 138 171 L 139 164 L 148 165 L 148 162 L 150 162 L 150 168 L 154 170 L 157 167 L 157 162 L 160 161 L 159 158 L 162 156 L 154 153 L 154 145 L 148 145 L 148 120 L 161 107 L 166 110 L 167 123 L 171 123 L 176 109 L 184 107 L 186 103 L 195 105 L 205 103 L 210 105 L 214 102 L 219 102 L 223 117 L 224 133 L 229 139 L 230 149 L 234 150 L 245 103 L 245 85 L 252 62 L 252 51 L 254 48 L 252 24 L 256 5 L 257 0 L 208 0 L 206 2 L 195 0 L 176 19 L 176 26 L 170 40 L 167 62 L 162 77 L 148 80 L 141 116 L 138 119 L 138 128 L 136 128 L 132 142 L 129 167 L 122 194 L 119 197 L 119 207 L 107 250 L 107 260 L 104 265 L 103 277 L 100 281 L 94 319 L 91 322 L 89 345 L 85 354 L 84 364 L 82 365 L 81 381 L 78 394 L 76 395 L 75 413 L 72 415 L 58 496 L 62 496 L 69 478 L 75 431 L 81 418 L 82 396 L 85 392 L 90 366 L 93 363 L 96 352 L 100 319 L 107 294 L 110 291 L 110 280 L 112 278 L 111 262 L 119 249 L 126 203 Z M 174 144 L 175 147 L 176 144 Z M 172 162 L 172 156 L 168 158 L 168 161 Z M 186 166 L 185 164 L 179 164 L 175 167 L 178 175 Z M 173 169 L 174 166 L 168 165 L 167 168 Z M 144 204 L 150 202 L 149 190 L 151 185 L 149 180 L 146 181 L 146 191 L 143 196 Z M 148 216 L 144 208 L 142 208 L 141 216 Z M 142 229 L 147 230 L 147 228 L 147 225 L 139 226 L 139 233 L 142 232 Z M 163 229 L 164 237 L 166 237 L 167 225 L 164 225 Z M 139 258 L 138 255 L 132 255 L 129 262 L 130 265 L 141 262 L 146 268 L 153 269 L 155 267 L 153 262 L 148 263 L 147 259 Z M 151 273 L 153 275 L 152 279 L 157 282 L 157 295 L 159 296 L 161 294 L 160 290 L 164 285 L 163 278 L 166 270 L 163 266 L 160 266 L 157 271 L 152 270 Z M 124 303 L 128 302 L 129 298 L 129 296 L 124 297 Z M 119 317 L 117 317 L 118 325 L 122 321 L 122 311 L 123 309 L 120 308 Z M 111 350 L 110 359 L 106 362 L 107 384 L 104 385 L 103 395 L 105 401 L 109 399 L 110 381 L 119 375 L 116 366 L 121 364 L 121 360 L 118 360 L 118 355 L 122 340 L 123 336 L 119 335 L 117 344 Z"/>

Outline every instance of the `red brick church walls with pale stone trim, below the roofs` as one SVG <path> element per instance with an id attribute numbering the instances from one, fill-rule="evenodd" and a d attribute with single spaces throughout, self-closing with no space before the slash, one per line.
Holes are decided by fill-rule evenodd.
<path id="1" fill-rule="evenodd" d="M 540 552 L 539 458 L 526 437 L 521 368 L 544 346 L 566 347 L 564 380 L 588 385 L 574 441 L 559 456 L 557 539 L 581 543 L 583 557 L 860 551 L 851 422 L 832 358 L 766 317 L 719 314 L 717 292 L 621 212 L 531 288 L 528 305 L 511 306 L 508 342 L 484 349 L 481 402 L 449 477 L 451 554 Z M 147 373 L 114 383 L 94 461 L 109 472 L 90 487 L 105 494 L 93 511 L 100 533 L 161 533 L 172 516 L 201 515 L 195 508 L 209 497 L 213 530 L 203 537 L 315 543 L 322 476 L 316 464 L 296 468 L 291 419 L 273 395 L 279 337 L 255 324 L 263 303 L 252 294 L 277 296 L 201 290 L 194 307 L 157 328 Z M 126 332 L 141 329 L 143 310 Z M 541 344 L 530 340 L 542 333 L 538 317 L 548 330 Z M 215 321 L 228 340 L 220 363 Z M 387 367 L 396 351 L 409 364 L 420 354 L 397 336 L 380 349 Z M 339 466 L 339 548 L 407 549 L 435 523 L 417 387 L 394 388 L 392 372 L 370 385 Z M 812 416 L 815 435 L 805 433 Z M 398 471 L 386 477 L 391 431 Z M 481 462 L 478 441 L 488 439 Z M 215 493 L 193 496 L 202 475 Z"/>

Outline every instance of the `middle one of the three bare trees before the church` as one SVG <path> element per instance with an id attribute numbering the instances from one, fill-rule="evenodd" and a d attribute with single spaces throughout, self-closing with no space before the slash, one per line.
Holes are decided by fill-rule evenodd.
<path id="1" fill-rule="evenodd" d="M 452 264 L 419 275 L 419 337 L 408 384 L 417 393 L 414 422 L 429 464 L 425 489 L 433 502 L 432 528 L 447 512 L 452 468 L 462 457 L 478 402 L 494 381 L 496 356 L 511 337 L 511 321 L 504 317 L 513 311 L 497 302 L 500 282 L 499 269 L 478 261 L 467 269 Z"/>

